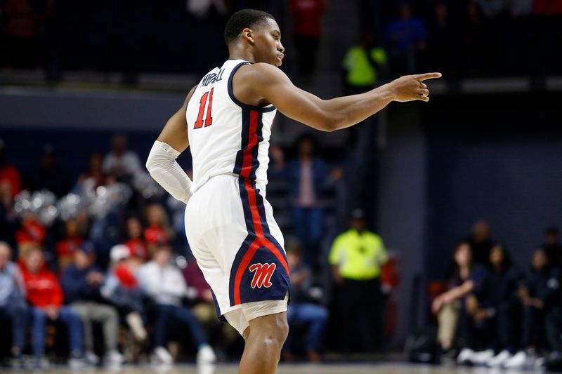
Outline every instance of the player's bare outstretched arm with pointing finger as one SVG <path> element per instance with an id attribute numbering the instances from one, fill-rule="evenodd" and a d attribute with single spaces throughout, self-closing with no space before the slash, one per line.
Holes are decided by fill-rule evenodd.
<path id="1" fill-rule="evenodd" d="M 440 73 L 402 76 L 360 95 L 322 100 L 292 84 L 287 75 L 272 65 L 259 63 L 244 70 L 245 88 L 255 98 L 273 104 L 282 114 L 322 131 L 334 131 L 359 123 L 384 109 L 392 101 L 429 101 L 426 79 Z M 240 100 L 240 98 L 239 98 Z"/>

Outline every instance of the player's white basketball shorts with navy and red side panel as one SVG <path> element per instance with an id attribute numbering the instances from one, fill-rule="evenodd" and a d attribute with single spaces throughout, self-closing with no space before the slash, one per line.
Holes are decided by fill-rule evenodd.
<path id="1" fill-rule="evenodd" d="M 254 183 L 237 175 L 209 179 L 188 201 L 185 233 L 213 291 L 217 315 L 241 334 L 250 319 L 287 310 L 283 236 Z"/>

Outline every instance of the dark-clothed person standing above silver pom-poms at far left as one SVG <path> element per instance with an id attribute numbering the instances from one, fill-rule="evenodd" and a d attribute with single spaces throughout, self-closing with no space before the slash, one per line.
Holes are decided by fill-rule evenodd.
<path id="1" fill-rule="evenodd" d="M 70 190 L 67 174 L 58 164 L 52 145 L 44 147 L 41 163 L 34 168 L 27 179 L 32 190 L 47 189 L 58 198 L 63 197 Z"/>

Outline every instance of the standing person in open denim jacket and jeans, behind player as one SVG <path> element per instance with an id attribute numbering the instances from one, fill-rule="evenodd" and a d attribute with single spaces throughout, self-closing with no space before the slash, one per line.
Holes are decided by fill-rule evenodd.
<path id="1" fill-rule="evenodd" d="M 311 135 L 302 135 L 296 147 L 299 158 L 287 165 L 292 222 L 305 248 L 306 262 L 316 268 L 324 234 L 323 198 L 330 175 L 325 161 L 315 154 L 316 142 Z"/>

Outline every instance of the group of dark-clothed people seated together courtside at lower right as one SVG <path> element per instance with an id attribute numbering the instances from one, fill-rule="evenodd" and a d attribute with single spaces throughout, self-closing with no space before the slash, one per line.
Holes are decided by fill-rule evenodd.
<path id="1" fill-rule="evenodd" d="M 477 222 L 453 255 L 445 290 L 432 285 L 442 359 L 492 368 L 560 368 L 562 363 L 562 243 L 544 232 L 528 269 Z M 526 271 L 525 271 L 526 270 Z"/>

